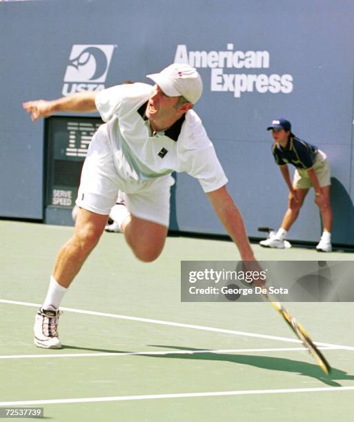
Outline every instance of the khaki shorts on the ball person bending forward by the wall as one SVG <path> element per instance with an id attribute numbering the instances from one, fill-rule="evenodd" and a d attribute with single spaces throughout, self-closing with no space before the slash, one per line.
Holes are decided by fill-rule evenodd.
<path id="1" fill-rule="evenodd" d="M 317 151 L 313 170 L 315 170 L 321 188 L 331 185 L 331 169 L 326 154 L 321 150 Z M 306 169 L 295 169 L 293 187 L 297 189 L 309 189 L 312 187 L 311 179 L 308 177 Z"/>

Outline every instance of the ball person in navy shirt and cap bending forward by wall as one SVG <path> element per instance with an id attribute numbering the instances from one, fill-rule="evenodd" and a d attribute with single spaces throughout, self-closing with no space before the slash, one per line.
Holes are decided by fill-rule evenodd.
<path id="1" fill-rule="evenodd" d="M 279 230 L 259 244 L 265 248 L 285 248 L 285 239 L 291 228 L 309 188 L 315 190 L 315 203 L 322 217 L 323 233 L 316 249 L 331 252 L 332 210 L 330 202 L 331 171 L 326 154 L 315 145 L 295 137 L 291 132 L 291 123 L 286 119 L 275 119 L 267 128 L 273 134 L 273 156 L 279 165 L 284 181 L 289 189 L 288 210 Z M 293 183 L 291 183 L 288 164 L 295 165 Z"/>

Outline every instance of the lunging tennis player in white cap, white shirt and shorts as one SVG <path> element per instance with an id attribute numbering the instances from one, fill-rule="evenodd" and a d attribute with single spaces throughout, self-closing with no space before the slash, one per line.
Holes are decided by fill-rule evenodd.
<path id="1" fill-rule="evenodd" d="M 148 78 L 154 86 L 132 83 L 54 101 L 23 103 L 32 121 L 54 112 L 98 110 L 106 122 L 92 137 L 83 165 L 75 232 L 59 250 L 48 294 L 36 315 L 38 347 L 61 348 L 59 305 L 104 232 L 118 191 L 124 194 L 124 204 L 115 221 L 141 261 L 154 261 L 164 248 L 174 171 L 199 180 L 242 260 L 255 259 L 242 216 L 226 190 L 228 179 L 193 110 L 202 93 L 199 73 L 190 66 L 173 64 Z"/>

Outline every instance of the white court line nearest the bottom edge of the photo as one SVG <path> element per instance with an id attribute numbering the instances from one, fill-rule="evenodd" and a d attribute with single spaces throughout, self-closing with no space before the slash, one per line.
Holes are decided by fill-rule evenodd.
<path id="1" fill-rule="evenodd" d="M 156 400 L 156 399 L 184 399 L 186 397 L 210 397 L 210 396 L 246 396 L 249 394 L 286 394 L 308 392 L 343 392 L 354 390 L 354 385 L 349 387 L 322 387 L 322 388 L 286 388 L 282 390 L 236 390 L 194 392 L 176 394 L 142 394 L 139 396 L 114 396 L 114 397 L 85 397 L 81 399 L 49 399 L 49 400 L 23 400 L 23 401 L 0 401 L 0 406 L 29 406 L 46 404 L 67 403 L 97 403 L 102 401 L 130 401 L 130 400 Z"/>

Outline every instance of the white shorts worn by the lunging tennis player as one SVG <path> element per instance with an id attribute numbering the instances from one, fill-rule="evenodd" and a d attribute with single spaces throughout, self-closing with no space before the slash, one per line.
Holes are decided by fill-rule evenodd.
<path id="1" fill-rule="evenodd" d="M 168 227 L 170 220 L 170 186 L 175 179 L 167 176 L 136 181 L 121 174 L 104 128 L 92 137 L 83 163 L 76 204 L 97 214 L 109 215 L 117 202 L 118 191 L 124 192 L 126 206 L 135 217 Z"/>

